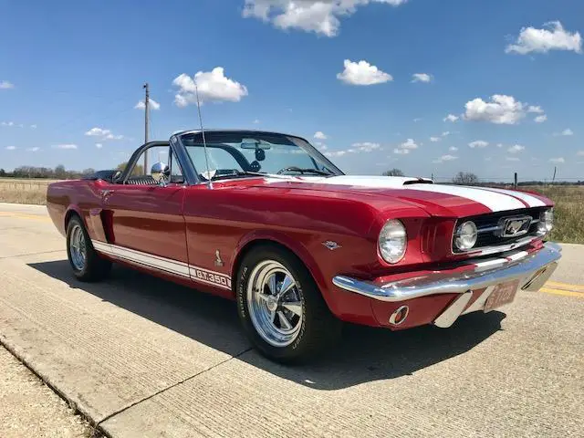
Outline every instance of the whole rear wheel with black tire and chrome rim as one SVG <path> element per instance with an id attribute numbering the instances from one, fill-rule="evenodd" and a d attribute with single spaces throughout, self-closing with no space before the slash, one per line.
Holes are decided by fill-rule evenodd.
<path id="1" fill-rule="evenodd" d="M 80 281 L 99 281 L 110 274 L 110 260 L 98 255 L 77 214 L 71 217 L 67 226 L 67 256 L 73 274 Z"/>

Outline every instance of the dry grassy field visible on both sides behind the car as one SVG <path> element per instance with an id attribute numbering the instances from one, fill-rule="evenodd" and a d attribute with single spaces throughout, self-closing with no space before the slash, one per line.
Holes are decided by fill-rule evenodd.
<path id="1" fill-rule="evenodd" d="M 0 178 L 0 202 L 44 204 L 47 185 L 54 180 Z M 584 244 L 584 186 L 531 186 L 522 190 L 542 193 L 556 203 L 556 227 L 551 239 Z"/>

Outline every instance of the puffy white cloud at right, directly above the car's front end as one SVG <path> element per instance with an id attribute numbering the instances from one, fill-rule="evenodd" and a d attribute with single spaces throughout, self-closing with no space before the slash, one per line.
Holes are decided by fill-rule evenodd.
<path id="1" fill-rule="evenodd" d="M 490 102 L 476 98 L 464 105 L 464 120 L 488 121 L 496 124 L 514 125 L 526 115 L 526 104 L 513 96 L 495 94 Z"/>

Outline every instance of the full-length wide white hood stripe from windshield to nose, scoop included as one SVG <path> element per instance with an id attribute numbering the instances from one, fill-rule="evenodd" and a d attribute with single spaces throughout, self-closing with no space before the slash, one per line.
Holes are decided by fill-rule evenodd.
<path id="1" fill-rule="evenodd" d="M 502 212 L 506 210 L 516 210 L 526 208 L 526 205 L 516 198 L 515 192 L 499 193 L 497 191 L 482 190 L 474 187 L 466 187 L 460 185 L 441 185 L 441 184 L 406 184 L 408 181 L 418 181 L 417 178 L 408 178 L 401 176 L 358 176 L 358 175 L 340 175 L 332 177 L 320 176 L 302 176 L 291 178 L 291 180 L 298 183 L 317 183 L 330 185 L 350 185 L 353 187 L 370 187 L 377 189 L 404 189 L 404 190 L 420 190 L 423 192 L 452 194 L 459 196 L 475 203 L 482 203 L 489 210 L 493 212 Z M 273 180 L 275 183 L 276 179 Z M 279 180 L 281 182 L 282 180 Z M 516 196 L 514 198 L 513 196 Z M 534 198 L 533 202 L 538 201 Z M 527 202 L 527 201 L 526 201 Z M 543 203 L 542 203 L 543 204 Z"/>

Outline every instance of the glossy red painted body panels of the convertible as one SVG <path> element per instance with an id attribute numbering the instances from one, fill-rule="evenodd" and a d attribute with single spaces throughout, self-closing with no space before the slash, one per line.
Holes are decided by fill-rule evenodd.
<path id="1" fill-rule="evenodd" d="M 102 190 L 110 190 L 107 196 Z M 549 200 L 539 196 L 547 204 Z M 207 185 L 167 187 L 121 185 L 98 181 L 53 183 L 47 192 L 47 210 L 65 234 L 66 216 L 83 218 L 91 239 L 157 255 L 214 271 L 232 279 L 238 257 L 248 245 L 272 241 L 287 247 L 308 267 L 328 307 L 338 318 L 370 326 L 388 327 L 391 312 L 401 303 L 386 303 L 348 292 L 332 284 L 333 276 L 386 282 L 467 267 L 450 251 L 457 218 L 489 213 L 485 205 L 465 198 L 413 189 L 362 187 L 265 181 L 250 178 Z M 408 232 L 408 249 L 395 265 L 377 250 L 381 227 L 400 219 Z M 339 243 L 329 250 L 323 242 Z M 532 248 L 537 248 L 537 241 Z M 532 249 L 533 250 L 533 249 Z M 216 251 L 223 266 L 215 264 Z M 111 259 L 124 262 L 115 256 Z M 233 297 L 216 287 L 143 266 L 157 276 L 203 292 Z M 410 315 L 399 328 L 433 321 L 453 300 L 453 294 L 408 301 Z M 475 297 L 474 297 L 475 299 Z"/>

